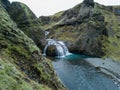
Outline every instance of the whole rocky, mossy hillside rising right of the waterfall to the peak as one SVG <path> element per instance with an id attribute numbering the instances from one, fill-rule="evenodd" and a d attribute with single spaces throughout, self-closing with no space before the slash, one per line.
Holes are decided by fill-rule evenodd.
<path id="1" fill-rule="evenodd" d="M 64 41 L 71 52 L 120 59 L 119 6 L 89 1 L 53 16 L 40 17 L 43 29 L 50 32 L 48 38 Z"/>

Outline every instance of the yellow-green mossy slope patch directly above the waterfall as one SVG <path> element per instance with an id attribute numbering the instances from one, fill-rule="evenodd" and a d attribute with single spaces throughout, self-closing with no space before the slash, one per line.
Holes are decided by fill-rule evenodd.
<path id="1" fill-rule="evenodd" d="M 55 30 L 52 29 L 50 31 L 49 38 L 57 38 L 58 40 L 63 41 L 75 41 L 78 34 L 77 29 L 77 27 L 75 28 L 72 25 L 55 28 Z"/>

